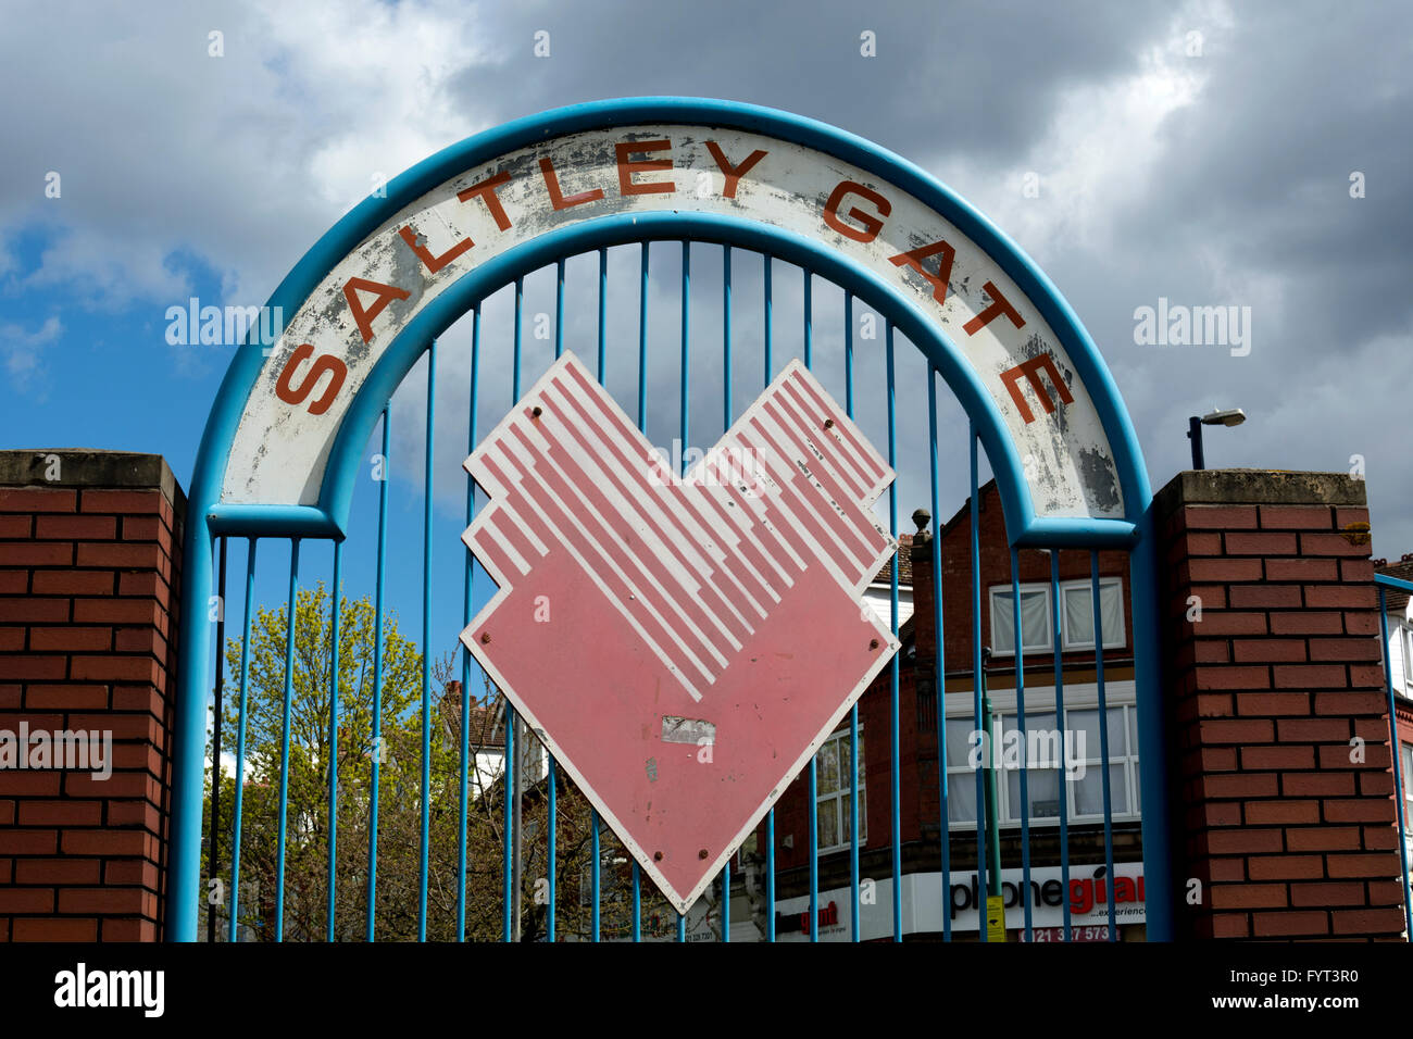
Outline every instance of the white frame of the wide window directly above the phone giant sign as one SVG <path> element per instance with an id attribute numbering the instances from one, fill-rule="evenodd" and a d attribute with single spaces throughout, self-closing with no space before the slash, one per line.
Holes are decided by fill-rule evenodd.
<path id="1" fill-rule="evenodd" d="M 1108 759 L 1111 765 L 1123 765 L 1123 789 L 1112 790 L 1113 797 L 1113 816 L 1115 823 L 1125 823 L 1140 820 L 1142 813 L 1142 790 L 1139 789 L 1139 748 L 1137 748 L 1137 697 L 1136 686 L 1132 679 L 1113 680 L 1104 683 L 1104 703 L 1109 710 L 1123 708 L 1123 741 L 1121 744 L 1121 751 L 1115 752 L 1112 758 Z M 1054 687 L 1053 686 L 1034 686 L 1026 690 L 1026 712 L 1029 715 L 1036 714 L 1054 714 Z M 1095 683 L 1065 683 L 1064 687 L 1064 710 L 1065 715 L 1071 711 L 1084 710 L 1098 710 L 1099 707 L 1099 687 Z M 974 698 L 969 690 L 948 693 L 947 694 L 947 720 L 964 718 L 972 721 L 975 715 Z M 991 694 L 991 711 L 992 711 L 992 732 L 1003 732 L 1000 725 L 1005 718 L 1010 720 L 1010 727 L 1015 728 L 1016 718 L 1016 691 L 1015 690 L 996 690 Z M 974 722 L 975 724 L 975 722 Z M 1113 738 L 1113 727 L 1111 725 L 1109 736 Z M 945 739 L 945 728 L 942 732 Z M 1098 755 L 1088 753 L 1087 770 L 1102 768 Z M 1015 817 L 1010 811 L 1010 783 L 1006 780 L 1006 772 L 1002 770 L 998 775 L 996 792 L 999 796 L 998 817 L 1000 820 L 1000 827 L 1020 828 L 1020 806 L 1016 806 Z M 964 758 L 961 762 L 954 762 L 951 758 L 947 759 L 947 785 L 954 786 L 957 782 L 975 783 L 976 773 L 966 763 Z M 1102 782 L 1102 780 L 1101 780 Z M 1092 823 L 1102 823 L 1104 814 L 1084 814 L 1080 816 L 1074 810 L 1074 785 L 1064 783 L 1063 790 L 1065 796 L 1065 823 L 1068 826 L 1088 826 Z M 948 806 L 948 816 L 951 807 Z M 947 823 L 951 831 L 966 831 L 975 830 L 976 823 L 972 821 L 958 821 L 948 818 Z M 1030 818 L 1031 827 L 1046 827 L 1060 826 L 1060 817 L 1053 816 L 1047 818 Z"/>

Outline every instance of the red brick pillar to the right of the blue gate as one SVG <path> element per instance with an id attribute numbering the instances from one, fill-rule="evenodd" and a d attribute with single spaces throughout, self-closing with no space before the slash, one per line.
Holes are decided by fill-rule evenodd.
<path id="1" fill-rule="evenodd" d="M 1397 937 L 1364 483 L 1183 472 L 1157 510 L 1180 933 Z"/>

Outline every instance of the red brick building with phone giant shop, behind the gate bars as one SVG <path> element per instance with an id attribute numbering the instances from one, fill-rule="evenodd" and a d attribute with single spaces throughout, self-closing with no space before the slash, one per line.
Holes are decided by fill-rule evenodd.
<path id="1" fill-rule="evenodd" d="M 979 492 L 981 510 L 981 639 L 992 649 L 985 666 L 992 714 L 999 728 L 993 731 L 1000 763 L 1005 755 L 1005 731 L 1016 728 L 1016 656 L 1012 621 L 1010 548 L 996 485 Z M 942 638 L 945 652 L 945 731 L 948 776 L 948 837 L 951 891 L 948 900 L 955 913 L 957 939 L 976 936 L 976 769 L 968 756 L 976 731 L 972 657 L 972 561 L 971 503 L 962 506 L 940 532 L 942 574 Z M 933 541 L 930 532 L 904 536 L 900 547 L 900 599 L 911 606 L 900 625 L 903 647 L 897 656 L 899 680 L 899 816 L 901 834 L 903 932 L 904 937 L 941 937 L 941 797 L 938 772 L 935 680 L 937 635 L 935 595 L 933 589 Z M 1033 909 L 1039 937 L 1054 937 L 1060 926 L 1060 797 L 1065 799 L 1071 882 L 1080 882 L 1071 910 L 1078 937 L 1095 937 L 1098 915 L 1106 913 L 1102 902 L 1094 903 L 1095 867 L 1105 861 L 1102 833 L 1102 770 L 1099 768 L 1098 687 L 1094 654 L 1094 618 L 1091 554 L 1060 553 L 1060 601 L 1051 588 L 1050 556 L 1041 551 L 1019 553 L 1022 599 L 1023 676 L 1026 688 L 1027 729 L 1071 732 L 1065 763 L 1072 779 L 1064 782 L 1058 768 L 1036 769 L 1027 775 L 1031 888 L 1041 905 Z M 1140 790 L 1137 786 L 1137 732 L 1133 714 L 1133 652 L 1129 630 L 1129 557 L 1123 551 L 1099 554 L 1101 628 L 1104 635 L 1105 707 L 1111 752 L 1111 800 L 1113 818 L 1113 858 L 1116 874 L 1129 876 L 1132 885 L 1119 882 L 1121 898 L 1140 891 L 1142 843 L 1139 837 Z M 890 568 L 875 580 L 870 601 L 889 619 L 887 585 Z M 1058 616 L 1057 616 L 1058 611 Z M 903 611 L 900 611 L 900 615 Z M 1056 656 L 1058 635 L 1064 683 L 1065 725 L 1056 727 Z M 873 681 L 859 700 L 859 800 L 861 817 L 859 876 L 872 881 L 861 893 L 861 936 L 890 937 L 892 923 L 892 669 Z M 1060 734 L 1060 738 L 1064 738 Z M 820 841 L 820 916 L 821 939 L 848 940 L 851 934 L 849 841 L 851 841 L 851 765 L 849 720 L 821 749 L 817 759 L 817 802 Z M 1051 744 L 1050 746 L 1054 746 Z M 1053 755 L 1051 755 L 1053 759 Z M 1019 761 L 1019 759 L 1012 759 Z M 1031 761 L 1034 758 L 1031 756 Z M 1003 878 L 1007 882 L 1007 929 L 1015 940 L 1024 927 L 1019 905 L 1022 868 L 1022 806 L 1019 769 L 1002 768 L 998 773 L 998 800 Z M 777 934 L 804 937 L 808 912 L 808 780 L 803 775 L 776 807 L 776 896 Z M 764 847 L 764 828 L 755 841 Z M 760 871 L 763 864 L 752 857 L 747 845 L 742 868 Z M 1121 868 L 1122 867 L 1122 868 Z M 1099 872 L 1102 882 L 1104 871 Z M 750 878 L 756 881 L 756 878 Z M 1053 884 L 1046 886 L 1047 882 Z M 743 881 L 742 886 L 747 886 Z M 760 888 L 759 882 L 752 886 Z M 1106 891 L 1106 886 L 1102 889 Z M 1088 895 L 1085 893 L 1088 892 Z M 869 899 L 872 905 L 868 905 Z M 1048 905 L 1044 905 L 1044 903 Z M 779 903 L 783 903 L 780 906 Z M 800 903 L 800 905 L 797 905 Z M 831 908 L 832 903 L 832 908 Z M 800 908 L 804 912 L 798 912 Z M 1122 905 L 1122 903 L 1121 903 Z M 1142 905 L 1123 905 L 1119 915 L 1121 936 L 1142 934 Z M 1118 909 L 1119 906 L 1116 906 Z M 763 926 L 763 903 L 757 896 L 757 927 Z M 1087 912 L 1080 912 L 1081 909 Z M 1125 923 L 1125 915 L 1139 922 Z M 1106 919 L 1106 917 L 1105 917 Z M 1106 933 L 1106 930 L 1105 930 Z"/>

